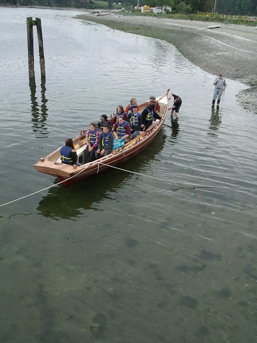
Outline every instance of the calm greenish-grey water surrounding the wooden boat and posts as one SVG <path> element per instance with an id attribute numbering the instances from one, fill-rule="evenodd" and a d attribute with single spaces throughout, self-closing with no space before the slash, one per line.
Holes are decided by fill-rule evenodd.
<path id="1" fill-rule="evenodd" d="M 170 87 L 181 118 L 122 166 L 145 176 L 112 169 L 0 207 L 0 341 L 256 341 L 257 118 L 236 101 L 245 86 L 227 80 L 212 114 L 215 75 L 75 14 L 0 9 L 1 204 L 53 185 L 34 163 L 131 97 Z M 36 91 L 27 16 L 42 20 Z"/>

